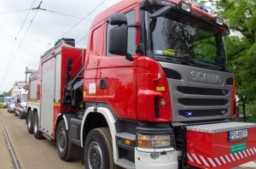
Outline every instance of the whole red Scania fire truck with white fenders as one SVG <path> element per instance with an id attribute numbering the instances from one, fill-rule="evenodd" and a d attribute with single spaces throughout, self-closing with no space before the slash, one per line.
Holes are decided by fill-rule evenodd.
<path id="1" fill-rule="evenodd" d="M 62 38 L 30 77 L 26 123 L 85 168 L 231 168 L 256 158 L 256 124 L 234 122 L 229 27 L 182 0 L 123 0 Z"/>

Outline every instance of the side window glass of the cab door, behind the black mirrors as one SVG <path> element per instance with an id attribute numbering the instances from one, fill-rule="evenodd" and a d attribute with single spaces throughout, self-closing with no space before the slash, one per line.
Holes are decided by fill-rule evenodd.
<path id="1" fill-rule="evenodd" d="M 126 19 L 127 19 L 127 23 L 128 25 L 132 25 L 135 24 L 135 10 L 132 10 L 128 13 L 125 14 Z M 113 56 L 113 54 L 109 54 L 108 53 L 108 33 L 109 30 L 111 30 L 114 26 L 116 25 L 110 25 L 108 24 L 107 26 L 107 42 L 106 42 L 106 54 L 107 56 Z M 130 54 L 135 54 L 135 50 L 136 50 L 136 46 L 135 46 L 135 28 L 128 28 L 128 47 L 127 47 L 127 52 Z"/>

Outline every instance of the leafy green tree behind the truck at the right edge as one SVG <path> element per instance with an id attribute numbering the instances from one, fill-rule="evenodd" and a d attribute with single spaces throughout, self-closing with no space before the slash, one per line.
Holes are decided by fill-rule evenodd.
<path id="1" fill-rule="evenodd" d="M 230 25 L 225 38 L 229 67 L 236 79 L 244 121 L 245 105 L 256 99 L 256 0 L 220 0 L 215 12 Z"/>

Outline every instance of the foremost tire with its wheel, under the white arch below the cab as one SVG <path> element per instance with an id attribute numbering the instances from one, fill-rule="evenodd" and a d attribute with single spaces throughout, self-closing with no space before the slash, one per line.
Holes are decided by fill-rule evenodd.
<path id="1" fill-rule="evenodd" d="M 85 168 L 113 169 L 113 148 L 110 131 L 107 127 L 96 128 L 89 132 L 84 143 Z"/>

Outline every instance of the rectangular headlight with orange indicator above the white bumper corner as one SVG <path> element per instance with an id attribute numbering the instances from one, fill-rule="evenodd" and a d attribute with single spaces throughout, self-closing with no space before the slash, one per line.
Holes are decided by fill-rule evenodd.
<path id="1" fill-rule="evenodd" d="M 137 145 L 141 148 L 174 147 L 174 137 L 170 134 L 143 134 L 137 135 Z"/>

